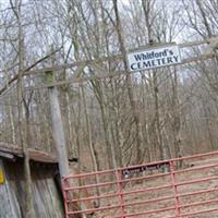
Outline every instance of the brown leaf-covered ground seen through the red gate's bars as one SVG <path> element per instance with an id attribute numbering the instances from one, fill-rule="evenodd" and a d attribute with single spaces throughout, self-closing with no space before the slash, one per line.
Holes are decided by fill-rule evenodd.
<path id="1" fill-rule="evenodd" d="M 183 169 L 189 169 L 189 168 L 196 168 L 203 165 L 208 165 L 208 164 L 218 164 L 218 157 L 217 158 L 202 158 L 197 159 L 195 161 L 192 161 L 191 164 L 185 162 L 186 167 Z M 194 166 L 192 166 L 194 165 Z M 161 173 L 158 172 L 157 170 L 153 172 L 146 172 L 147 174 L 157 174 Z M 145 172 L 144 172 L 145 175 Z M 183 173 L 178 173 L 177 174 L 177 181 L 178 182 L 184 182 L 184 181 L 191 181 L 191 180 L 196 180 L 201 178 L 206 178 L 206 177 L 216 177 L 218 175 L 218 167 L 210 167 L 208 169 L 201 169 L 197 171 L 190 171 L 190 172 L 183 172 Z M 134 175 L 136 177 L 136 175 Z M 138 173 L 137 177 L 142 177 L 142 173 Z M 87 180 L 86 180 L 87 181 Z M 93 183 L 93 180 L 88 180 L 90 183 Z M 102 181 L 110 181 L 109 175 L 101 177 L 101 182 Z M 135 182 L 128 182 L 125 186 L 123 187 L 123 192 L 129 192 L 129 191 L 135 191 L 135 190 L 142 190 L 142 189 L 148 189 L 148 187 L 156 187 L 156 186 L 161 186 L 161 185 L 167 185 L 171 184 L 171 175 L 167 177 L 161 177 L 161 178 L 149 178 L 146 180 L 141 181 L 140 183 Z M 204 210 L 204 209 L 209 209 L 209 208 L 218 208 L 218 179 L 214 179 L 210 181 L 206 182 L 198 182 L 194 184 L 186 184 L 186 185 L 181 185 L 178 186 L 178 192 L 179 194 L 184 194 L 184 193 L 190 193 L 190 192 L 196 192 L 201 190 L 206 190 L 206 189 L 217 189 L 216 191 L 213 191 L 210 193 L 203 193 L 203 194 L 197 194 L 193 196 L 183 196 L 179 198 L 180 205 L 186 205 L 186 207 L 181 208 L 180 213 L 185 214 L 185 213 L 193 213 L 193 211 L 198 211 L 198 210 Z M 111 194 L 117 191 L 116 185 L 110 185 L 105 189 L 101 189 L 101 194 Z M 93 189 L 94 192 L 94 189 Z M 89 193 L 92 193 L 92 190 L 89 189 Z M 150 201 L 154 198 L 158 197 L 166 197 L 166 196 L 172 196 L 174 193 L 174 190 L 172 187 L 167 187 L 162 190 L 157 190 L 157 191 L 147 191 L 147 192 L 140 192 L 137 194 L 130 194 L 130 195 L 123 195 L 123 201 L 125 204 L 129 203 L 135 203 L 135 202 L 142 202 L 142 201 Z M 95 195 L 95 194 L 94 194 Z M 196 205 L 190 207 L 189 204 L 191 203 L 197 203 L 197 202 L 205 202 L 209 199 L 217 199 L 215 203 L 208 203 L 204 205 Z M 119 197 L 108 197 L 105 199 L 101 199 L 100 202 L 100 207 L 105 206 L 112 206 L 112 205 L 119 205 Z M 159 201 L 159 202 L 153 202 L 153 203 L 146 203 L 146 204 L 137 204 L 134 206 L 126 206 L 124 208 L 126 214 L 131 213 L 141 213 L 144 210 L 153 210 L 153 209 L 162 209 L 167 207 L 173 207 L 174 206 L 174 198 L 171 199 L 165 199 L 165 201 Z M 101 211 L 96 211 L 93 217 L 95 218 L 114 218 L 120 215 L 120 208 L 117 209 L 104 209 Z M 169 210 L 169 211 L 161 211 L 158 214 L 147 214 L 147 215 L 137 215 L 137 216 L 131 216 L 131 217 L 137 217 L 137 218 L 168 218 L 168 217 L 173 217 L 174 216 L 174 210 Z M 121 217 L 121 216 L 120 216 Z M 129 217 L 129 216 L 126 216 Z M 183 217 L 189 217 L 189 218 L 218 218 L 218 210 L 214 213 L 205 213 L 202 215 L 193 215 L 193 216 L 183 216 Z"/>

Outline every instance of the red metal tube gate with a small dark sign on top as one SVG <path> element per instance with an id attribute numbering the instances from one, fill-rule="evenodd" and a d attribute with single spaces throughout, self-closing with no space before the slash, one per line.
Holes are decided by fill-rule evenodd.
<path id="1" fill-rule="evenodd" d="M 62 191 L 65 218 L 217 217 L 218 152 L 70 174 Z"/>

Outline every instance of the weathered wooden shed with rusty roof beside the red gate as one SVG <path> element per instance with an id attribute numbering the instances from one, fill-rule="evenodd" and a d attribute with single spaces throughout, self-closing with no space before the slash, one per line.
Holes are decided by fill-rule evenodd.
<path id="1" fill-rule="evenodd" d="M 57 159 L 29 149 L 32 191 L 36 217 L 62 218 L 63 202 L 56 175 Z M 24 217 L 24 172 L 22 149 L 0 143 L 0 218 Z"/>

